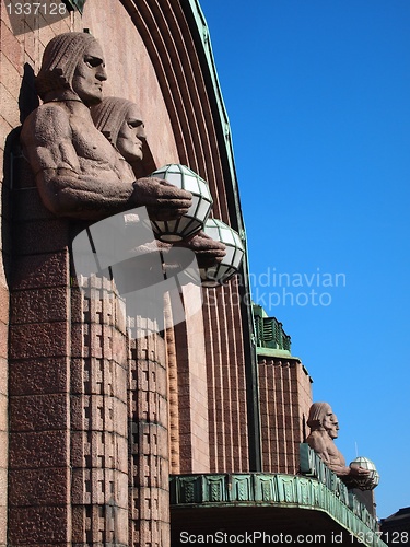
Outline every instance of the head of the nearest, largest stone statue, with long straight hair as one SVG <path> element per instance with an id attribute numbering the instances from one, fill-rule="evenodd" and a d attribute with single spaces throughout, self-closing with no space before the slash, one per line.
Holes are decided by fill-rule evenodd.
<path id="1" fill-rule="evenodd" d="M 47 44 L 36 89 L 43 101 L 71 98 L 91 106 L 103 98 L 106 79 L 98 42 L 91 34 L 65 33 Z"/>

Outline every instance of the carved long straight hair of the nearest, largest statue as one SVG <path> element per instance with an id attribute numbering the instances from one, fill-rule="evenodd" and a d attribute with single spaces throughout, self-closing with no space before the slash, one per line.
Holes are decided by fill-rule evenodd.
<path id="1" fill-rule="evenodd" d="M 95 42 L 87 33 L 63 33 L 47 44 L 36 78 L 36 90 L 43 100 L 49 92 L 71 89 L 77 65 Z"/>

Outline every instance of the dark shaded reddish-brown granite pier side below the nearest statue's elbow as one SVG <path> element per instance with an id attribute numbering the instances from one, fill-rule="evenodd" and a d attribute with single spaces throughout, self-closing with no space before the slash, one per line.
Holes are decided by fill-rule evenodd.
<path id="1" fill-rule="evenodd" d="M 12 185 L 8 544 L 69 545 L 69 223 L 44 208 L 22 158 Z"/>

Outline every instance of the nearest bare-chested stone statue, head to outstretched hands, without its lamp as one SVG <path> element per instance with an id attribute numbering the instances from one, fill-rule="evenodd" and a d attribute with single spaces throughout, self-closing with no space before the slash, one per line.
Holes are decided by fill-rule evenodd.
<path id="1" fill-rule="evenodd" d="M 99 220 L 140 206 L 152 219 L 180 218 L 190 194 L 159 178 L 136 179 L 95 128 L 90 107 L 102 101 L 106 79 L 103 51 L 90 34 L 60 34 L 47 45 L 36 79 L 44 104 L 21 133 L 43 202 L 73 219 Z"/>

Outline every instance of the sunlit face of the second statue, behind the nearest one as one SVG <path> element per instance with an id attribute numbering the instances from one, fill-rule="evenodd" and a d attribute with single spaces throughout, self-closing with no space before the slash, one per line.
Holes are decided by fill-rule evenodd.
<path id="1" fill-rule="evenodd" d="M 142 143 L 145 140 L 144 125 L 137 105 L 131 105 L 118 131 L 117 149 L 130 163 L 142 160 Z"/>

